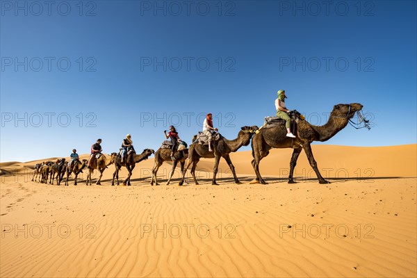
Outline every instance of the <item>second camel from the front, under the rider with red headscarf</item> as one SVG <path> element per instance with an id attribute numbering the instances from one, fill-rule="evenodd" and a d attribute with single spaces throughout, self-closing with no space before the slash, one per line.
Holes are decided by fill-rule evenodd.
<path id="1" fill-rule="evenodd" d="M 258 129 L 258 126 L 243 126 L 238 133 L 238 137 L 234 140 L 227 140 L 223 136 L 220 136 L 218 141 L 213 141 L 212 144 L 213 152 L 208 152 L 208 145 L 200 145 L 195 139 L 197 136 L 193 138 L 193 144 L 190 145 L 190 149 L 188 151 L 188 161 L 185 170 L 183 171 L 183 176 L 179 185 L 182 186 L 186 177 L 186 172 L 188 167 L 191 164 L 191 174 L 193 175 L 193 179 L 195 184 L 197 185 L 197 179 L 195 178 L 195 167 L 197 167 L 197 163 L 199 162 L 200 158 L 215 158 L 214 161 L 214 169 L 213 169 L 213 181 L 211 184 L 217 186 L 218 183 L 215 181 L 215 176 L 218 172 L 218 166 L 220 158 L 224 158 L 227 164 L 230 167 L 230 170 L 233 174 L 235 183 L 240 183 L 238 177 L 236 177 L 236 172 L 234 170 L 234 165 L 231 163 L 231 159 L 229 154 L 231 152 L 236 152 L 240 147 L 247 146 L 250 143 L 250 139 L 254 135 L 254 132 Z"/>

